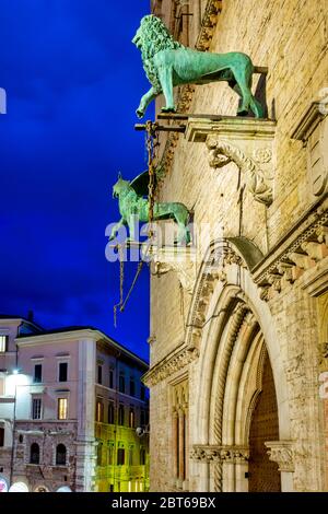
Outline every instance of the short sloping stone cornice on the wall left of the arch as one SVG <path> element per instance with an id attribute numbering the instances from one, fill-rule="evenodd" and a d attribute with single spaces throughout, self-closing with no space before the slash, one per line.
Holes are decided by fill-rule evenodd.
<path id="1" fill-rule="evenodd" d="M 148 387 L 153 387 L 176 371 L 186 367 L 195 359 L 198 359 L 198 357 L 199 351 L 196 348 L 180 348 L 151 367 L 150 371 L 142 376 L 142 382 Z"/>

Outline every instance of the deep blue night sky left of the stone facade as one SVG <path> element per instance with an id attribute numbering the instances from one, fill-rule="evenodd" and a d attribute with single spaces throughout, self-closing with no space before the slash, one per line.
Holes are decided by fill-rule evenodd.
<path id="1" fill-rule="evenodd" d="M 145 170 L 133 125 L 149 84 L 131 39 L 149 3 L 0 0 L 0 314 L 92 325 L 143 358 L 149 270 L 115 328 L 119 266 L 105 259 L 105 227 L 119 218 L 117 172 Z"/>

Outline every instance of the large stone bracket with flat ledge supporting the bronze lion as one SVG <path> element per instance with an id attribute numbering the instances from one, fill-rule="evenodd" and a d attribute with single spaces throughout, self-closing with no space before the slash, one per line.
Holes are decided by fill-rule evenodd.
<path id="1" fill-rule="evenodd" d="M 188 141 L 204 141 L 209 164 L 214 170 L 234 163 L 247 182 L 256 201 L 269 207 L 273 201 L 276 122 L 255 118 L 222 117 L 220 120 L 191 118 Z"/>

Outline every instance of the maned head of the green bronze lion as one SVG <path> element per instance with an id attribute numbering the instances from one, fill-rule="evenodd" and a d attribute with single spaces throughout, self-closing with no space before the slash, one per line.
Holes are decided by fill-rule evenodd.
<path id="1" fill-rule="evenodd" d="M 141 20 L 132 43 L 141 50 L 143 69 L 148 80 L 160 92 L 161 83 L 152 58 L 161 50 L 176 50 L 184 48 L 183 45 L 174 40 L 162 20 L 153 14 Z"/>

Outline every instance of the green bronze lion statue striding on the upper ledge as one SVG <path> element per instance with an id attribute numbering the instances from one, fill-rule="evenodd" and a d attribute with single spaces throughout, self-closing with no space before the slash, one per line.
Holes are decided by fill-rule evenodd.
<path id="1" fill-rule="evenodd" d="M 247 115 L 249 110 L 257 118 L 265 116 L 265 109 L 251 94 L 255 68 L 245 54 L 211 54 L 186 48 L 174 40 L 162 20 L 153 14 L 141 20 L 132 43 L 141 50 L 143 69 L 152 84 L 137 109 L 139 118 L 144 116 L 148 105 L 161 93 L 166 101 L 162 112 L 175 112 L 175 85 L 209 84 L 215 81 L 226 81 L 239 95 L 239 116 Z"/>

